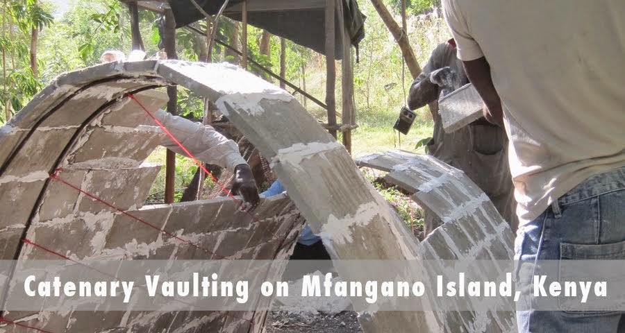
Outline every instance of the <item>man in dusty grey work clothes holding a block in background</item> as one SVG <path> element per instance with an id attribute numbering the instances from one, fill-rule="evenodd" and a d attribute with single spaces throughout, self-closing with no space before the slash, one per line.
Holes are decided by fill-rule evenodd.
<path id="1" fill-rule="evenodd" d="M 430 60 L 410 86 L 408 108 L 416 110 L 434 103 L 469 83 L 462 62 L 456 57 L 456 43 L 439 44 Z M 445 133 L 437 108 L 432 108 L 434 132 L 428 142 L 428 154 L 458 168 L 471 178 L 492 200 L 510 228 L 516 230 L 514 187 L 508 167 L 508 139 L 503 128 L 481 118 L 452 133 Z M 425 212 L 424 234 L 441 224 L 434 214 Z"/>

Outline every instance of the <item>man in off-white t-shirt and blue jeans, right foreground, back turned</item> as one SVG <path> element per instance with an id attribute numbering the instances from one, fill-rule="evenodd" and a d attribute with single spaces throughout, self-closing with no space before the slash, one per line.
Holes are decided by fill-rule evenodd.
<path id="1" fill-rule="evenodd" d="M 625 259 L 625 1 L 442 6 L 485 116 L 510 139 L 519 283 L 534 259 Z M 620 316 L 517 312 L 521 332 L 617 332 Z"/>

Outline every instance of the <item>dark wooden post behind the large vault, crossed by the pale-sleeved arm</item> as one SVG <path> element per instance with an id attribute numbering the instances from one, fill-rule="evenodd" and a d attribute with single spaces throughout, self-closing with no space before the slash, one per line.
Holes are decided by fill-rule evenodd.
<path id="1" fill-rule="evenodd" d="M 165 10 L 165 34 L 163 35 L 167 59 L 177 59 L 176 56 L 176 19 L 171 9 Z M 178 87 L 167 86 L 167 112 L 178 113 Z M 165 162 L 165 203 L 174 202 L 174 185 L 176 177 L 176 153 L 167 150 Z"/>

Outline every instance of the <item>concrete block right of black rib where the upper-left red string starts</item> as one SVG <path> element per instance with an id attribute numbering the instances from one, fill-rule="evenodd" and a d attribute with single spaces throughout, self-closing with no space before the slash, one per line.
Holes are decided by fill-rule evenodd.
<path id="1" fill-rule="evenodd" d="M 59 176 L 72 185 L 81 185 L 86 173 L 86 170 L 64 169 Z M 80 192 L 67 184 L 51 180 L 39 208 L 39 221 L 48 221 L 55 217 L 72 214 L 79 195 Z"/>

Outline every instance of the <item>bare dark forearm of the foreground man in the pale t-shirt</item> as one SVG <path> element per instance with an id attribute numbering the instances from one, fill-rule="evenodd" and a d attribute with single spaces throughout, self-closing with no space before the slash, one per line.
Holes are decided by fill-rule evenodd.
<path id="1" fill-rule="evenodd" d="M 492 83 L 490 76 L 490 65 L 486 58 L 481 57 L 476 60 L 463 61 L 467 77 L 484 101 L 484 117 L 490 123 L 503 127 L 503 110 L 501 109 L 501 99 Z"/>

